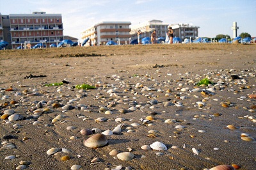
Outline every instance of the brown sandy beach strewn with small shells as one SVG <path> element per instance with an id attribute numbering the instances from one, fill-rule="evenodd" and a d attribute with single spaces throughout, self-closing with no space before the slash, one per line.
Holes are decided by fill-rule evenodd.
<path id="1" fill-rule="evenodd" d="M 255 47 L 255 44 L 177 44 L 1 50 L 0 113 L 13 109 L 24 118 L 0 120 L 1 147 L 4 143 L 15 146 L 0 149 L 0 169 L 15 169 L 21 160 L 29 162 L 26 169 L 70 169 L 74 164 L 81 169 L 112 169 L 120 165 L 122 169 L 210 169 L 220 164 L 256 169 L 255 141 L 241 139 L 242 133 L 256 138 L 256 100 L 248 97 L 256 93 Z M 30 74 L 46 77 L 24 79 Z M 233 80 L 231 75 L 238 75 L 239 79 Z M 191 92 L 194 88 L 212 88 L 195 86 L 195 82 L 205 77 L 214 82 L 215 94 Z M 44 86 L 63 80 L 70 84 Z M 136 86 L 138 83 L 142 85 Z M 79 89 L 72 88 L 77 84 L 98 86 L 79 93 Z M 6 91 L 10 87 L 12 91 Z M 115 94 L 107 93 L 109 89 L 114 89 Z M 170 93 L 166 95 L 168 89 Z M 24 90 L 27 93 L 22 93 Z M 27 95 L 34 92 L 38 94 Z M 53 112 L 31 118 L 40 101 L 54 100 L 66 105 L 73 99 L 70 102 L 73 107 L 84 104 L 88 107 L 86 111 L 74 108 L 63 112 L 61 107 L 49 105 Z M 12 100 L 18 103 L 12 105 Z M 150 100 L 157 100 L 158 104 L 149 104 Z M 205 105 L 199 108 L 196 102 L 202 100 Z M 166 102 L 170 105 L 164 107 Z M 183 107 L 177 107 L 179 102 Z M 118 112 L 134 103 L 136 111 Z M 225 103 L 229 107 L 221 106 Z M 109 107 L 113 114 L 99 112 L 100 106 L 109 104 L 113 104 Z M 141 122 L 154 113 L 153 121 Z M 221 116 L 213 116 L 216 113 Z M 52 123 L 59 114 L 65 118 Z M 108 121 L 96 123 L 99 117 Z M 132 123 L 140 126 L 133 127 L 134 132 L 124 128 L 120 134 L 108 135 L 108 145 L 102 148 L 84 146 L 83 141 L 90 136 L 81 135 L 81 129 L 113 130 L 121 124 L 115 121 L 118 117 L 125 118 L 124 127 L 131 127 Z M 164 123 L 167 119 L 177 122 Z M 39 123 L 33 125 L 35 121 Z M 20 126 L 13 127 L 16 123 Z M 184 128 L 177 130 L 177 125 Z M 227 125 L 237 128 L 230 130 Z M 68 126 L 76 128 L 67 130 Z M 156 130 L 155 137 L 147 136 L 149 130 Z M 72 140 L 71 136 L 77 139 Z M 168 150 L 141 150 L 141 146 L 156 141 L 165 144 Z M 128 151 L 128 147 L 135 155 L 130 161 L 109 155 L 111 150 Z M 59 151 L 47 155 L 51 148 L 66 148 L 70 153 Z M 199 151 L 198 155 L 192 148 Z M 157 152 L 163 155 L 158 156 Z M 5 159 L 10 155 L 15 157 Z M 70 160 L 61 161 L 63 155 Z M 99 161 L 91 164 L 94 157 Z"/>

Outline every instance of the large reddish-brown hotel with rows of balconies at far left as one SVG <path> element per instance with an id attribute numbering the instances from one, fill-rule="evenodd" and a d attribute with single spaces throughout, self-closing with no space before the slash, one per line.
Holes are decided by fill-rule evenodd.
<path id="1" fill-rule="evenodd" d="M 8 42 L 9 49 L 16 49 L 23 43 L 51 43 L 63 40 L 63 23 L 61 14 L 46 14 L 33 12 L 32 14 L 2 15 L 3 40 Z M 0 24 L 1 25 L 1 24 Z M 1 29 L 0 29 L 1 38 Z"/>

